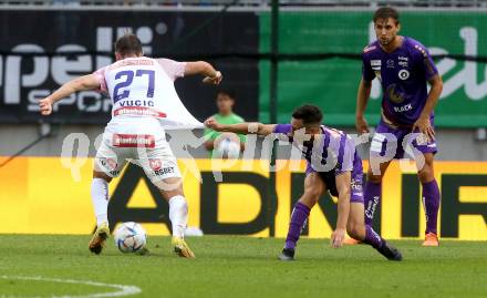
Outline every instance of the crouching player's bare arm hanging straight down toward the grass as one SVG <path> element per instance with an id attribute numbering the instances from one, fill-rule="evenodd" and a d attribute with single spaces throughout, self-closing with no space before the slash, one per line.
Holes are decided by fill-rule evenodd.
<path id="1" fill-rule="evenodd" d="M 339 202 L 336 228 L 331 235 L 331 245 L 334 248 L 341 247 L 343 245 L 343 240 L 345 239 L 346 223 L 349 220 L 350 213 L 351 176 L 351 172 L 345 172 L 335 177 L 336 191 L 339 192 Z"/>

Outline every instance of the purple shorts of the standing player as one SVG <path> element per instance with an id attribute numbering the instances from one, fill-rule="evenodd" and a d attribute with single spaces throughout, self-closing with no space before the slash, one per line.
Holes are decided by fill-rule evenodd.
<path id="1" fill-rule="evenodd" d="M 413 156 L 410 157 L 418 153 L 437 152 L 435 141 L 428 141 L 422 134 L 412 133 L 408 129 L 393 129 L 381 121 L 372 138 L 371 153 L 379 153 L 381 156 L 390 154 L 391 160 L 404 158 L 407 145 L 418 151 L 413 150 L 411 152 Z"/>

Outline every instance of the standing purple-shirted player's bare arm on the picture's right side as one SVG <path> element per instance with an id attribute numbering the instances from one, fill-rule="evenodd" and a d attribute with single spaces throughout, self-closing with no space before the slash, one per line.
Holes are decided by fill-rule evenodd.
<path id="1" fill-rule="evenodd" d="M 418 132 L 424 133 L 429 140 L 435 140 L 435 130 L 429 121 L 429 115 L 435 109 L 439 95 L 442 94 L 443 80 L 441 75 L 435 75 L 428 82 L 432 85 L 432 89 L 429 90 L 426 104 L 423 107 L 419 117 L 413 125 L 413 132 L 417 130 Z"/>

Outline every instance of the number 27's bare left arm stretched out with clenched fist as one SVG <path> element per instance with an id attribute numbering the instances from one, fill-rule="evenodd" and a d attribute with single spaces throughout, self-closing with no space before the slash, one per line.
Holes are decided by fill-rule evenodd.
<path id="1" fill-rule="evenodd" d="M 39 101 L 39 106 L 41 107 L 41 114 L 44 116 L 50 115 L 52 113 L 52 105 L 54 103 L 70 96 L 75 92 L 85 91 L 85 90 L 95 90 L 99 88 L 100 88 L 100 82 L 95 74 L 87 74 L 74 79 L 63 84 L 60 89 L 58 89 L 54 93 L 52 93 L 48 97 Z"/>

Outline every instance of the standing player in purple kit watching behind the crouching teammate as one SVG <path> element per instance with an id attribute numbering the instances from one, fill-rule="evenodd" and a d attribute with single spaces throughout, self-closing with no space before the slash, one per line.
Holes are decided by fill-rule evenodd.
<path id="1" fill-rule="evenodd" d="M 437 217 L 439 189 L 433 172 L 436 153 L 433 110 L 442 93 L 443 82 L 426 48 L 408 37 L 397 35 L 400 17 L 393 8 L 380 8 L 373 21 L 377 40 L 363 50 L 362 80 L 356 99 L 356 130 L 367 133 L 364 119 L 371 82 L 377 78 L 382 85 L 382 113 L 371 145 L 373 156 L 381 158 L 388 148 L 396 148 L 391 158 L 379 160 L 375 171 L 367 171 L 365 184 L 365 223 L 372 225 L 374 210 L 381 199 L 382 177 L 392 158 L 404 156 L 404 144 L 412 145 L 417 176 L 423 185 L 426 214 L 424 246 L 438 246 Z M 431 84 L 429 92 L 427 83 Z M 417 134 L 411 134 L 417 133 Z M 391 152 L 388 152 L 391 153 Z"/>

